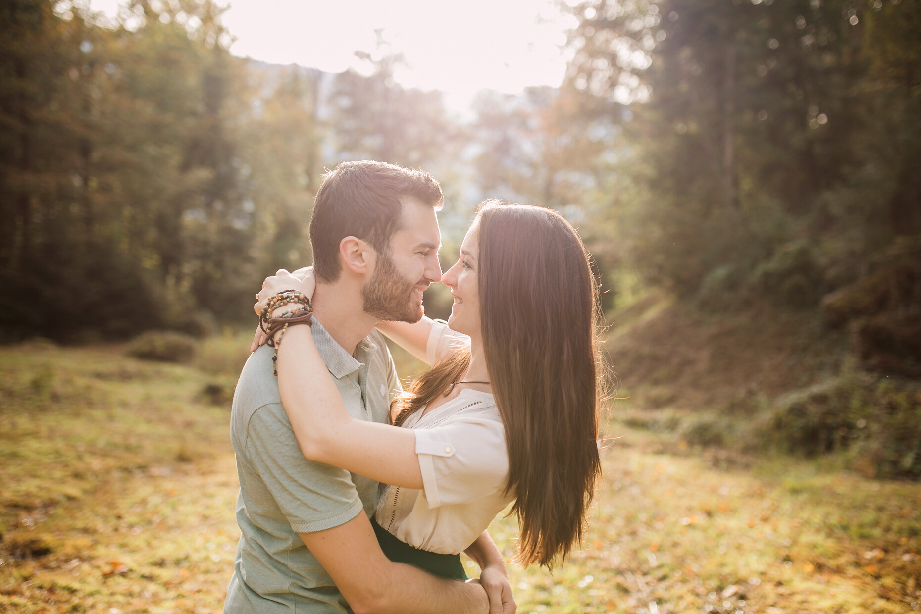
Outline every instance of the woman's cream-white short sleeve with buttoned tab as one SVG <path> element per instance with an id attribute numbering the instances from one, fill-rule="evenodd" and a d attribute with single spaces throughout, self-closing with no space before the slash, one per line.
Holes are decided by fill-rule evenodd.
<path id="1" fill-rule="evenodd" d="M 471 417 L 414 433 L 429 509 L 470 503 L 506 488 L 508 454 L 501 422 Z"/>

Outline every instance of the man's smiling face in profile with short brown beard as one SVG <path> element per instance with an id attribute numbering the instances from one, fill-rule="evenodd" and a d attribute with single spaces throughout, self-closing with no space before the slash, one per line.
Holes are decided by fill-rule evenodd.
<path id="1" fill-rule="evenodd" d="M 390 253 L 379 253 L 371 279 L 361 289 L 365 312 L 377 319 L 418 322 L 422 293 L 441 279 L 441 233 L 431 205 L 403 199 L 402 228 L 391 237 Z"/>

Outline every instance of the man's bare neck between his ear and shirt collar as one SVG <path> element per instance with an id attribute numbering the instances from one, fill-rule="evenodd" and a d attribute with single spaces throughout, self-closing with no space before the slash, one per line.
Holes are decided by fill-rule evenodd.
<path id="1" fill-rule="evenodd" d="M 317 284 L 310 300 L 313 315 L 335 342 L 349 354 L 367 337 L 377 324 L 362 308 L 361 290 L 340 281 L 332 284 Z"/>

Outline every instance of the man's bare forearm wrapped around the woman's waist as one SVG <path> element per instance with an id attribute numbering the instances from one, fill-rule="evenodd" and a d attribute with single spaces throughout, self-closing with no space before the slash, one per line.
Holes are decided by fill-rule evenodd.
<path id="1" fill-rule="evenodd" d="M 437 578 L 391 562 L 364 514 L 338 527 L 300 533 L 356 614 L 486 614 L 489 600 L 476 583 Z"/>

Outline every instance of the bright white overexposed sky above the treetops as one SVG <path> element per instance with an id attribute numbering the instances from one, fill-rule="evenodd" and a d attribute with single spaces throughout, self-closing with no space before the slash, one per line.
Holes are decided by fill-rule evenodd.
<path id="1" fill-rule="evenodd" d="M 563 80 L 568 19 L 553 0 L 230 0 L 230 51 L 272 64 L 367 74 L 356 51 L 402 52 L 404 87 L 440 89 L 467 110 L 482 88 L 518 93 Z M 118 0 L 90 0 L 113 15 Z M 380 33 L 375 30 L 380 29 Z"/>

